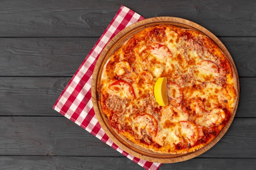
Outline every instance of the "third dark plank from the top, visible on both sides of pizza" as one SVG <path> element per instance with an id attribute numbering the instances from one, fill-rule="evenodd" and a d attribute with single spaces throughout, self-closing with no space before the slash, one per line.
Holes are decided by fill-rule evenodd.
<path id="1" fill-rule="evenodd" d="M 52 106 L 70 77 L 1 77 L 0 115 L 61 116 Z M 256 117 L 256 78 L 240 78 L 236 117 Z"/>

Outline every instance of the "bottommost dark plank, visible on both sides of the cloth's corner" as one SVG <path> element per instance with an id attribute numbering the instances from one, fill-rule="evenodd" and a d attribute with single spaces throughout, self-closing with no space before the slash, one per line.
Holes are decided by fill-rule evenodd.
<path id="1" fill-rule="evenodd" d="M 44 157 L 3 156 L 0 165 L 4 170 L 145 170 L 125 157 Z M 194 158 L 180 163 L 162 164 L 159 170 L 254 170 L 256 159 Z"/>

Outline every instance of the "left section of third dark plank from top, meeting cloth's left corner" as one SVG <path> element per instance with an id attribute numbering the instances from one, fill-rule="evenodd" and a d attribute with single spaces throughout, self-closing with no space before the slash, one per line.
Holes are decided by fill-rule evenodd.
<path id="1" fill-rule="evenodd" d="M 1 77 L 0 115 L 61 116 L 52 109 L 71 77 Z"/>

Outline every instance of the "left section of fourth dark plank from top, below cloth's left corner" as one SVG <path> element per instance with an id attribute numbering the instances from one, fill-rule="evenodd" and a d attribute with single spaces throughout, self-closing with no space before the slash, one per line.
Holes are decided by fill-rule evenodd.
<path id="1" fill-rule="evenodd" d="M 65 117 L 0 117 L 0 155 L 121 156 Z"/>

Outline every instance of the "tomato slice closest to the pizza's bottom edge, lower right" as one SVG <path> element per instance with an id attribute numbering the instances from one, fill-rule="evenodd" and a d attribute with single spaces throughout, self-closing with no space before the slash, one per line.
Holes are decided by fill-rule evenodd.
<path id="1" fill-rule="evenodd" d="M 180 121 L 178 126 L 180 135 L 184 137 L 190 146 L 194 146 L 199 137 L 196 124 L 192 121 Z"/>

